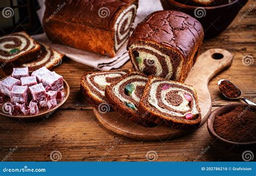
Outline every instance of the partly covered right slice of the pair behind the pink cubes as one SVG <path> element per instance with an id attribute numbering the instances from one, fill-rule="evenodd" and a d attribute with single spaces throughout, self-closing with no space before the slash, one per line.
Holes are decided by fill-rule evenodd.
<path id="1" fill-rule="evenodd" d="M 48 69 L 52 69 L 62 64 L 62 58 L 64 54 L 53 50 L 48 45 L 40 43 L 42 49 L 35 57 L 35 59 L 25 62 L 22 67 L 29 67 L 29 71 L 36 71 L 37 69 L 45 66 Z"/>

